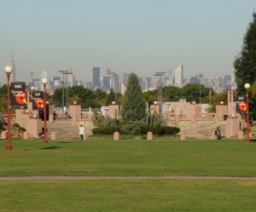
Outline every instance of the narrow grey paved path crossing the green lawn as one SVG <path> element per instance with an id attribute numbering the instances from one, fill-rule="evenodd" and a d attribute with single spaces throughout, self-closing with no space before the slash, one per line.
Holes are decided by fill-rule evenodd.
<path id="1" fill-rule="evenodd" d="M 42 180 L 256 180 L 256 177 L 224 176 L 25 176 L 0 177 L 0 181 Z"/>

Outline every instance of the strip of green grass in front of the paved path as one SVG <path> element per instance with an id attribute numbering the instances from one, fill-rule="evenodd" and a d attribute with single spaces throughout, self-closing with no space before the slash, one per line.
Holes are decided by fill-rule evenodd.
<path id="1" fill-rule="evenodd" d="M 251 180 L 0 182 L 0 211 L 256 211 Z"/>

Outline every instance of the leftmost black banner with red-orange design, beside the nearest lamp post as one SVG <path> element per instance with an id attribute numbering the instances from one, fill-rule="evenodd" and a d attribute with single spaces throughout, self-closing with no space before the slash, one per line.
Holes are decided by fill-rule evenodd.
<path id="1" fill-rule="evenodd" d="M 26 106 L 26 83 L 10 83 L 11 106 Z"/>

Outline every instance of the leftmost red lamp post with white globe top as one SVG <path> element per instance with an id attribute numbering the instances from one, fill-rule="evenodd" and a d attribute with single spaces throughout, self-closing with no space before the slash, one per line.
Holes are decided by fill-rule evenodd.
<path id="1" fill-rule="evenodd" d="M 7 74 L 7 132 L 8 132 L 8 139 L 7 139 L 7 145 L 6 145 L 6 150 L 12 150 L 13 147 L 11 145 L 10 141 L 10 96 L 9 96 L 9 76 L 11 72 L 13 72 L 13 68 L 11 66 L 5 66 L 4 72 Z"/>

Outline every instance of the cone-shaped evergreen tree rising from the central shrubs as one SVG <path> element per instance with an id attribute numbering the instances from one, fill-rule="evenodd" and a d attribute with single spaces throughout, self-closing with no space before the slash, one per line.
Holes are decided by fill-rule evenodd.
<path id="1" fill-rule="evenodd" d="M 122 118 L 126 121 L 138 121 L 146 116 L 146 104 L 143 101 L 143 90 L 139 84 L 137 75 L 131 73 L 125 90 Z"/>

